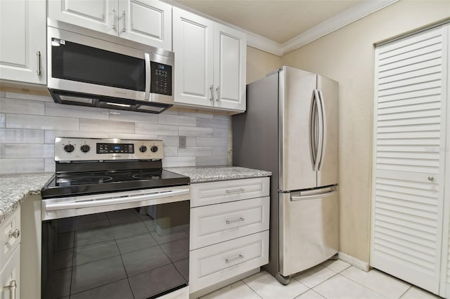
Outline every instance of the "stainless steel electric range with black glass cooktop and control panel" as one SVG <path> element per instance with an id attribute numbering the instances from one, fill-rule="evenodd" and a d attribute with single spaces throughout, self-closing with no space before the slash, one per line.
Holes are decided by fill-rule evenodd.
<path id="1" fill-rule="evenodd" d="M 162 141 L 56 138 L 41 190 L 41 298 L 155 298 L 188 284 L 190 179 Z"/>

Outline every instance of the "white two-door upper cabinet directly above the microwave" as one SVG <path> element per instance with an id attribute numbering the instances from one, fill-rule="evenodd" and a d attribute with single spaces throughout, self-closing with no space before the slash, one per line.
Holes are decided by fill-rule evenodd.
<path id="1" fill-rule="evenodd" d="M 157 0 L 49 0 L 49 18 L 172 51 L 172 6 Z"/>

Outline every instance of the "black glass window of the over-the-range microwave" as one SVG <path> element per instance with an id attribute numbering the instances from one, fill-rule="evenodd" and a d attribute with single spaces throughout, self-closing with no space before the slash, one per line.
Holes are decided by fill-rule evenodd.
<path id="1" fill-rule="evenodd" d="M 145 60 L 52 39 L 51 73 L 54 78 L 145 91 Z"/>

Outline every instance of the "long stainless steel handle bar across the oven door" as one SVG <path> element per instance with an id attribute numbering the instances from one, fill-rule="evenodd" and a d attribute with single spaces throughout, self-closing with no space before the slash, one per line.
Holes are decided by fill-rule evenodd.
<path id="1" fill-rule="evenodd" d="M 149 199 L 162 199 L 165 197 L 174 197 L 176 195 L 189 194 L 189 189 L 168 190 L 155 193 L 146 193 L 141 195 L 131 195 L 127 197 L 112 197 L 108 199 L 80 200 L 75 202 L 60 202 L 49 204 L 43 201 L 45 211 L 67 210 L 71 208 L 92 208 L 96 206 L 108 206 L 111 204 L 129 204 L 136 201 L 146 201 Z"/>

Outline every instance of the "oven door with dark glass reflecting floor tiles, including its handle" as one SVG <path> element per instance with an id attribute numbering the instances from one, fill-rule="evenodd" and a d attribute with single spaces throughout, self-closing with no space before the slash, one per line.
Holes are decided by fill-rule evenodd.
<path id="1" fill-rule="evenodd" d="M 41 298 L 155 298 L 188 284 L 189 186 L 44 199 Z"/>

